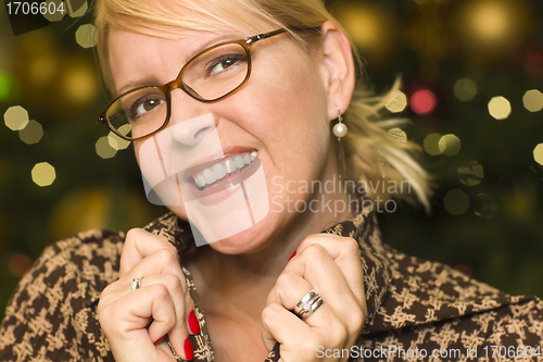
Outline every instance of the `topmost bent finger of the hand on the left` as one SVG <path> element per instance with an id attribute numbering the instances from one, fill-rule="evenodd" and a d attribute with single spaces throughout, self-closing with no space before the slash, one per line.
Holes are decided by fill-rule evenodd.
<path id="1" fill-rule="evenodd" d="M 177 249 L 165 238 L 143 230 L 132 228 L 126 234 L 123 253 L 121 255 L 119 272 L 123 276 L 128 273 L 142 259 L 161 249 L 172 250 L 177 254 Z"/>

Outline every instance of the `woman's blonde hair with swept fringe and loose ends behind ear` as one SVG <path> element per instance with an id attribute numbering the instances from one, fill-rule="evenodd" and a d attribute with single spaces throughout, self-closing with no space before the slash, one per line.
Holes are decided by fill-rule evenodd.
<path id="1" fill-rule="evenodd" d="M 106 40 L 112 26 L 161 38 L 178 38 L 179 28 L 224 33 L 241 25 L 264 32 L 262 22 L 256 21 L 261 18 L 286 28 L 300 46 L 311 48 L 318 45 L 318 32 L 300 29 L 318 28 L 326 21 L 338 24 L 321 0 L 97 0 L 94 18 L 100 63 L 110 85 Z M 353 53 L 362 70 L 354 48 Z M 384 105 L 393 100 L 400 82 L 382 97 L 371 97 L 362 77 L 356 82 L 353 99 L 343 114 L 349 133 L 337 147 L 342 176 L 358 185 L 369 185 L 365 191 L 372 198 L 392 197 L 395 192 L 390 192 L 390 185 L 407 183 L 408 189 L 396 188 L 404 192 L 395 197 L 411 203 L 418 201 L 428 210 L 430 179 L 414 158 L 420 148 L 391 137 L 388 130 L 404 121 L 382 118 Z"/>

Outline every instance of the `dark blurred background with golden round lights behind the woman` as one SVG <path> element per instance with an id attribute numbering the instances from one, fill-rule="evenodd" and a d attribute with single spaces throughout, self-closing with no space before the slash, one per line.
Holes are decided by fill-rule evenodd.
<path id="1" fill-rule="evenodd" d="M 0 5 L 0 317 L 47 245 L 165 211 L 147 202 L 131 145 L 94 122 L 108 95 L 88 3 L 64 4 L 48 18 Z M 386 242 L 543 297 L 543 1 L 329 5 L 377 92 L 402 76 L 387 112 L 412 123 L 392 133 L 420 145 L 435 178 L 431 214 L 403 204 L 380 215 Z"/>

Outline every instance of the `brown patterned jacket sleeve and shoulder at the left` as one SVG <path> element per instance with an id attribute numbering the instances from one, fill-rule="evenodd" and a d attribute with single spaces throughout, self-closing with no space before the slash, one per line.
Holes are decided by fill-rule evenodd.
<path id="1" fill-rule="evenodd" d="M 96 308 L 118 277 L 123 236 L 91 230 L 47 247 L 0 326 L 0 361 L 113 361 Z"/>

